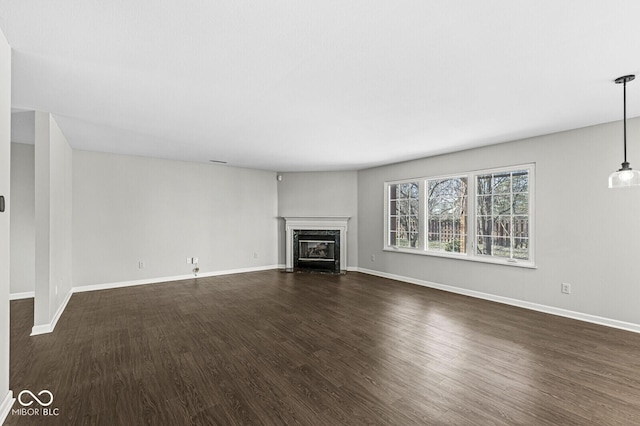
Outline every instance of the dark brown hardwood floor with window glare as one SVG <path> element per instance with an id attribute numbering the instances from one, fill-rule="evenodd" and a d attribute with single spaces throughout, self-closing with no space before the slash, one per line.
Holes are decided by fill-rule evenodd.
<path id="1" fill-rule="evenodd" d="M 59 415 L 7 425 L 640 424 L 640 335 L 359 273 L 78 293 L 32 324 L 11 302 L 11 389 Z"/>

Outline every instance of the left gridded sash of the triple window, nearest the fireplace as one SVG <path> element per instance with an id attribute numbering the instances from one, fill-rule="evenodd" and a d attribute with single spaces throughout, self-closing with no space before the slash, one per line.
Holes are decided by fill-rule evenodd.
<path id="1" fill-rule="evenodd" d="M 420 244 L 420 186 L 418 182 L 388 185 L 389 240 L 393 247 L 415 248 Z"/>

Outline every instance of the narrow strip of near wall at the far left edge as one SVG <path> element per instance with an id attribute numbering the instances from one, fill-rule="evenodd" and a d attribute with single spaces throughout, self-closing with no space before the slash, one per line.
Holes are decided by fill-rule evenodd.
<path id="1" fill-rule="evenodd" d="M 0 31 L 0 195 L 7 200 L 0 213 L 0 422 L 11 408 L 9 391 L 9 268 L 11 211 L 11 48 Z"/>

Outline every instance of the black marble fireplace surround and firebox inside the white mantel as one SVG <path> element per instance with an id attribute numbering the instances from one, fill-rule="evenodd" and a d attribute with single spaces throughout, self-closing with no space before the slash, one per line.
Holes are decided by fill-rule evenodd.
<path id="1" fill-rule="evenodd" d="M 293 269 L 340 273 L 340 231 L 295 229 Z"/>

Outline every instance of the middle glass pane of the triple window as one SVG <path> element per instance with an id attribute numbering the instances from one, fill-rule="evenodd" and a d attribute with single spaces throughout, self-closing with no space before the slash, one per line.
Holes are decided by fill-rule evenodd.
<path id="1" fill-rule="evenodd" d="M 467 178 L 427 180 L 427 250 L 466 253 Z"/>

